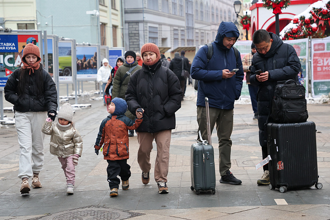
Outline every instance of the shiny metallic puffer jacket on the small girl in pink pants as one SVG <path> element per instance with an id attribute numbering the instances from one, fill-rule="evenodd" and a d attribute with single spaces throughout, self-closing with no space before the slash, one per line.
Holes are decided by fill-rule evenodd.
<path id="1" fill-rule="evenodd" d="M 68 130 L 62 131 L 57 123 L 45 121 L 41 131 L 51 136 L 51 154 L 56 157 L 69 157 L 74 154 L 82 156 L 83 138 L 72 125 Z"/>

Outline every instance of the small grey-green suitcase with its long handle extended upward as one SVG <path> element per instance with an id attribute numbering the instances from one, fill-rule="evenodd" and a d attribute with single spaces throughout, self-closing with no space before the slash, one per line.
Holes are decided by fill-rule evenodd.
<path id="1" fill-rule="evenodd" d="M 214 150 L 211 143 L 209 103 L 207 97 L 205 97 L 205 104 L 208 141 L 202 140 L 202 143 L 198 142 L 192 144 L 190 156 L 192 177 L 191 190 L 195 190 L 197 195 L 200 191 L 207 190 L 212 190 L 213 194 L 216 193 L 216 169 L 214 164 Z"/>

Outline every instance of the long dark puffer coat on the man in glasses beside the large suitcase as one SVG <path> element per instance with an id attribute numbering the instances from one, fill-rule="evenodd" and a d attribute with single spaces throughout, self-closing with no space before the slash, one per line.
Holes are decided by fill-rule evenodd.
<path id="1" fill-rule="evenodd" d="M 259 86 L 258 100 L 258 127 L 259 142 L 262 147 L 267 146 L 266 120 L 271 108 L 277 81 L 294 80 L 298 83 L 298 73 L 301 63 L 295 49 L 283 43 L 274 33 L 269 32 L 273 39 L 269 52 L 265 55 L 255 53 L 252 58 L 250 83 Z M 259 82 L 256 80 L 255 71 L 268 71 L 268 80 Z"/>

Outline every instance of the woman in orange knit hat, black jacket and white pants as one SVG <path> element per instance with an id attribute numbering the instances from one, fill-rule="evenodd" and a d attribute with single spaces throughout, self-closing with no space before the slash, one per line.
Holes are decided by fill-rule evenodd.
<path id="1" fill-rule="evenodd" d="M 55 120 L 57 109 L 55 83 L 40 61 L 38 46 L 27 44 L 23 50 L 23 66 L 9 76 L 4 86 L 5 99 L 14 105 L 22 194 L 30 191 L 28 178 L 33 177 L 32 188 L 41 187 L 39 172 L 44 162 L 45 137 L 41 127 L 47 115 Z"/>

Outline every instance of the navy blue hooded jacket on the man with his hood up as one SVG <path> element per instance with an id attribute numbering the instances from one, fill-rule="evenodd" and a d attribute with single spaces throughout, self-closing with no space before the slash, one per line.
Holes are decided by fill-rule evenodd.
<path id="1" fill-rule="evenodd" d="M 197 106 L 205 107 L 205 97 L 209 98 L 210 107 L 218 109 L 234 109 L 234 102 L 241 96 L 244 71 L 239 54 L 236 65 L 234 49 L 223 45 L 224 37 L 238 38 L 240 33 L 232 22 L 221 22 L 216 40 L 212 42 L 213 55 L 207 62 L 208 47 L 204 45 L 196 53 L 192 61 L 192 79 L 199 80 Z M 222 79 L 222 70 L 239 69 L 234 76 Z"/>

